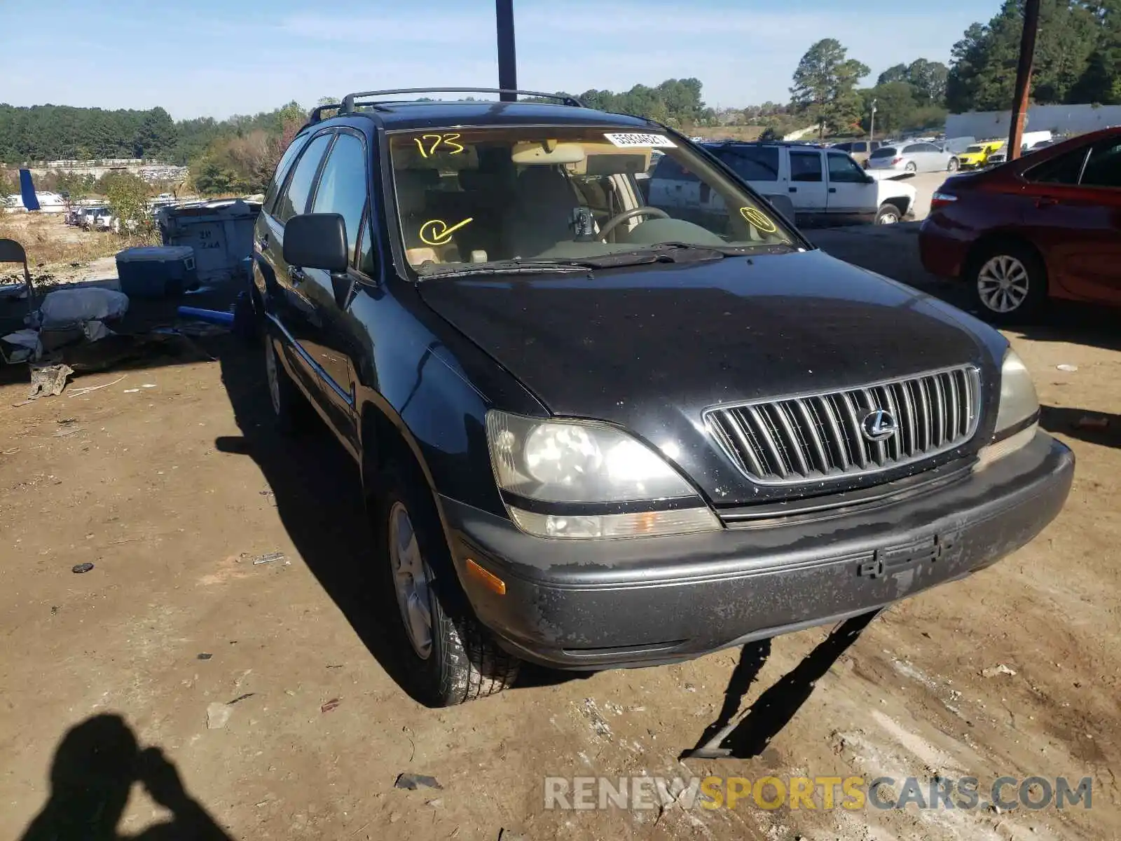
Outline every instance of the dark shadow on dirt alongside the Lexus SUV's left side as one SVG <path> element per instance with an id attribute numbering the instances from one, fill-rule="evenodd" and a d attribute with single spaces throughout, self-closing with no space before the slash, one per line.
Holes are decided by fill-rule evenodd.
<path id="1" fill-rule="evenodd" d="M 358 465 L 317 416 L 297 436 L 277 428 L 258 345 L 230 336 L 209 350 L 222 366 L 222 383 L 241 431 L 240 436 L 217 438 L 215 449 L 257 463 L 296 551 L 379 665 L 409 692 L 405 657 L 411 653 L 393 644 L 400 637 L 398 607 L 382 585 L 382 561 L 373 549 Z M 513 688 L 582 676 L 527 664 Z"/>

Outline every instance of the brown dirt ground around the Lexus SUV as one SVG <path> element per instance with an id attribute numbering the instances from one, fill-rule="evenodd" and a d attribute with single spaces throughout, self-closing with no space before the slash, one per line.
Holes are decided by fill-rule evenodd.
<path id="1" fill-rule="evenodd" d="M 835 662 L 815 650 L 828 629 L 776 640 L 742 705 L 786 676 L 771 694 L 784 714 L 751 713 L 751 758 L 684 764 L 725 691 L 739 697 L 736 650 L 591 676 L 527 669 L 507 693 L 443 711 L 413 701 L 383 641 L 392 617 L 372 583 L 356 471 L 323 431 L 294 443 L 270 429 L 258 354 L 237 340 L 200 340 L 214 361 L 154 359 L 18 407 L 26 371 L 8 371 L 0 837 L 46 815 L 76 825 L 58 835 L 73 839 L 113 826 L 149 839 L 1119 838 L 1117 335 L 1083 314 L 1010 334 L 1044 424 L 1078 458 L 1040 537 L 886 612 Z M 1110 425 L 1087 428 L 1085 415 Z M 93 569 L 72 572 L 83 563 Z M 396 788 L 401 773 L 442 788 Z M 1090 776 L 1093 800 L 544 807 L 546 776 L 639 774 L 974 776 L 982 793 L 1002 775 Z"/>

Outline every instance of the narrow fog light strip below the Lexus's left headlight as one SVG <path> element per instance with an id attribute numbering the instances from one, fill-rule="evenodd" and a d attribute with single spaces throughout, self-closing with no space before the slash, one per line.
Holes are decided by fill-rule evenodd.
<path id="1" fill-rule="evenodd" d="M 569 516 L 536 514 L 511 506 L 510 516 L 518 528 L 535 537 L 575 540 L 684 535 L 711 532 L 721 527 L 716 515 L 707 508 Z"/>

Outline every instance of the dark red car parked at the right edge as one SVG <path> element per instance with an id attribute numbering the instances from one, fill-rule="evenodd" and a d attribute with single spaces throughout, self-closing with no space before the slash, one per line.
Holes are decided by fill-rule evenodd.
<path id="1" fill-rule="evenodd" d="M 919 251 L 989 321 L 1028 318 L 1048 297 L 1121 306 L 1121 127 L 948 178 Z"/>

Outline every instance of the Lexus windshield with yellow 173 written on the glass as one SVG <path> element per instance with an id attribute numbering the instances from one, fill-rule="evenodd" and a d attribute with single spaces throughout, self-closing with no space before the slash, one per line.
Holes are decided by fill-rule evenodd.
<path id="1" fill-rule="evenodd" d="M 766 203 L 663 135 L 578 127 L 402 131 L 389 136 L 389 148 L 405 256 L 419 274 L 667 247 L 748 253 L 796 241 Z M 650 170 L 656 153 L 663 155 L 650 177 L 636 178 Z"/>

